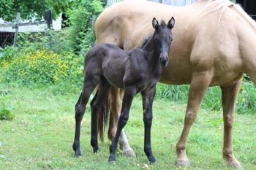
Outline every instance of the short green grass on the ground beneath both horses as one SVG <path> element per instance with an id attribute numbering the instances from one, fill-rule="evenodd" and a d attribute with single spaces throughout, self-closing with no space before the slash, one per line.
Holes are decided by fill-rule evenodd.
<path id="1" fill-rule="evenodd" d="M 186 103 L 167 99 L 154 101 L 151 130 L 157 164 L 149 165 L 143 152 L 143 120 L 140 97 L 133 101 L 125 127 L 136 158 L 124 158 L 118 150 L 117 165 L 108 163 L 110 142 L 105 138 L 94 154 L 90 146 L 90 109 L 81 128 L 83 158 L 75 158 L 74 105 L 78 93 L 58 93 L 56 88 L 22 88 L 0 85 L 8 91 L 12 121 L 0 121 L 0 169 L 178 169 L 175 147 L 184 122 Z M 222 160 L 222 112 L 200 109 L 189 134 L 187 153 L 191 169 L 227 169 Z M 234 152 L 244 169 L 256 169 L 256 115 L 236 115 Z"/>

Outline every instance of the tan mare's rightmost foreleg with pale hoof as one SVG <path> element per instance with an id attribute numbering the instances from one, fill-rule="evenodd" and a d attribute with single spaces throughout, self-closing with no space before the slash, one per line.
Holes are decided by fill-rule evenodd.
<path id="1" fill-rule="evenodd" d="M 222 107 L 224 120 L 224 141 L 223 141 L 223 158 L 230 167 L 241 168 L 241 164 L 236 160 L 233 154 L 232 135 L 233 135 L 233 118 L 235 113 L 236 97 L 241 86 L 241 80 L 233 85 L 222 88 Z"/>

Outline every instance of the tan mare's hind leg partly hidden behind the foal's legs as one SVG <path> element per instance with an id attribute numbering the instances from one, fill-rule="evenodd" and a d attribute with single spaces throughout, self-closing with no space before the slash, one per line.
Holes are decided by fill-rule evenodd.
<path id="1" fill-rule="evenodd" d="M 121 112 L 121 98 L 123 98 L 124 90 L 115 87 L 110 88 L 110 123 L 108 128 L 108 138 L 112 141 L 116 135 L 116 124 L 119 114 Z M 118 143 L 122 147 L 122 154 L 124 156 L 135 157 L 135 152 L 132 147 L 129 146 L 127 136 L 124 133 L 124 129 L 121 131 Z"/>

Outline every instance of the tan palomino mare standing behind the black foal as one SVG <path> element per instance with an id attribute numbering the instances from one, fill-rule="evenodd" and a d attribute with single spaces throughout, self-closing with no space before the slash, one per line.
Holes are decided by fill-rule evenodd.
<path id="1" fill-rule="evenodd" d="M 170 64 L 161 82 L 190 84 L 184 128 L 176 145 L 176 165 L 189 166 L 187 136 L 209 86 L 222 90 L 224 142 L 222 155 L 228 166 L 241 164 L 233 154 L 233 117 L 235 101 L 244 73 L 256 83 L 256 24 L 241 7 L 228 0 L 200 0 L 185 7 L 172 7 L 145 0 L 121 1 L 105 9 L 95 24 L 97 43 L 108 42 L 125 50 L 138 47 L 152 33 L 148 20 L 153 16 L 176 18 Z M 110 93 L 109 132 L 113 136 L 120 112 L 121 92 Z M 132 152 L 126 136 L 121 144 Z M 133 152 L 132 152 L 133 154 Z"/>

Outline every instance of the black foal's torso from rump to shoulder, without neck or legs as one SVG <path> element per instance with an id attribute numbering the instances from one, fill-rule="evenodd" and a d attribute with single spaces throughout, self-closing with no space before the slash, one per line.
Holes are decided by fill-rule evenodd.
<path id="1" fill-rule="evenodd" d="M 97 45 L 86 55 L 86 77 L 95 73 L 102 74 L 111 85 L 124 88 L 127 78 L 131 82 L 138 82 L 142 73 L 145 74 L 148 64 L 144 55 L 146 53 L 140 48 L 125 51 L 116 45 Z"/>

